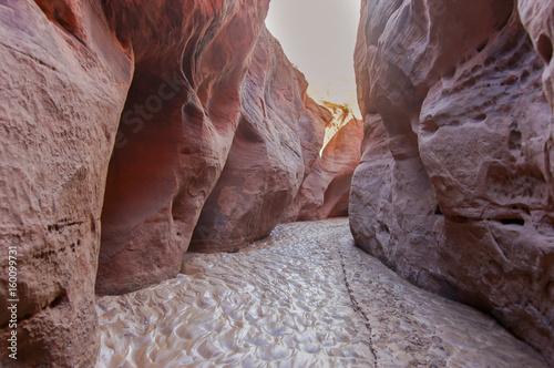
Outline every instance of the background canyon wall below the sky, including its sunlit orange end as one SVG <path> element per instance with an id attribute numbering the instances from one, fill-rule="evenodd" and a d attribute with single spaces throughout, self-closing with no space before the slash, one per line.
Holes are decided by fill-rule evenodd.
<path id="1" fill-rule="evenodd" d="M 337 105 L 328 103 L 331 113 L 316 103 L 307 86 L 264 30 L 243 86 L 233 145 L 202 209 L 191 252 L 237 252 L 279 222 L 348 215 L 362 124 L 349 111 L 335 111 Z M 320 156 L 332 125 L 337 130 Z"/>

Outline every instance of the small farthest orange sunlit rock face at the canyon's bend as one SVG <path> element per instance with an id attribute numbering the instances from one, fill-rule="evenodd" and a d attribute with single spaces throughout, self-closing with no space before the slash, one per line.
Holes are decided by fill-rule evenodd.
<path id="1" fill-rule="evenodd" d="M 290 206 L 291 219 L 348 215 L 350 183 L 360 163 L 362 136 L 363 125 L 353 116 L 332 135 Z"/>

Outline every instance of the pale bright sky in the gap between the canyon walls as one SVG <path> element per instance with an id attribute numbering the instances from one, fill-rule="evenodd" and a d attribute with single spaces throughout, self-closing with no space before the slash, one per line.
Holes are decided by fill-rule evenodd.
<path id="1" fill-rule="evenodd" d="M 271 0 L 266 24 L 306 75 L 316 101 L 348 104 L 360 117 L 353 49 L 360 0 Z"/>

